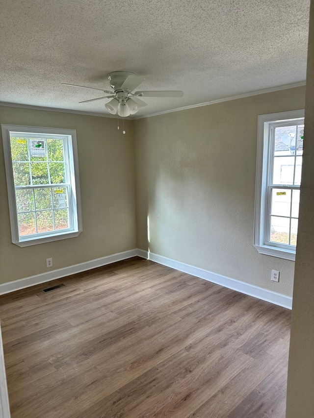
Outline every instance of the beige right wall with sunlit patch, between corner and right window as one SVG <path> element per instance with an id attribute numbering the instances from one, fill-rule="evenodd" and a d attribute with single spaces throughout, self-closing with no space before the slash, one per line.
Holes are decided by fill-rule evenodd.
<path id="1" fill-rule="evenodd" d="M 253 247 L 257 118 L 302 109 L 304 96 L 298 87 L 134 121 L 138 247 L 291 296 L 294 262 Z"/>

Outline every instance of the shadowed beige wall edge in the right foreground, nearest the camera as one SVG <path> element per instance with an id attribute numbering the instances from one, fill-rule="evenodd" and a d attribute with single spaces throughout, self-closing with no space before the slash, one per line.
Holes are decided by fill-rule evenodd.
<path id="1" fill-rule="evenodd" d="M 287 418 L 314 417 L 314 2 L 311 2 L 305 137 L 295 261 Z"/>

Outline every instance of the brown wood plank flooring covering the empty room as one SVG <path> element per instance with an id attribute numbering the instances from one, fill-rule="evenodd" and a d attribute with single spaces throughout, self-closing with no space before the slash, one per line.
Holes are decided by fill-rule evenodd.
<path id="1" fill-rule="evenodd" d="M 134 257 L 0 319 L 12 418 L 285 417 L 290 312 L 189 274 Z"/>

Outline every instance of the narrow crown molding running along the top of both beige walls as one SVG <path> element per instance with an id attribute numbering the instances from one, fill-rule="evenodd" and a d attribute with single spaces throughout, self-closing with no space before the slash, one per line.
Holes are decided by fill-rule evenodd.
<path id="1" fill-rule="evenodd" d="M 133 116 L 132 118 L 128 117 L 128 118 L 125 118 L 125 119 L 129 120 L 129 121 L 136 121 L 138 119 L 152 118 L 153 116 L 165 115 L 166 113 L 179 112 L 180 110 L 193 109 L 194 107 L 208 106 L 209 104 L 221 103 L 223 101 L 236 100 L 238 98 L 245 98 L 245 97 L 250 97 L 250 96 L 258 96 L 258 95 L 261 95 L 261 94 L 264 94 L 264 93 L 272 93 L 272 92 L 277 92 L 279 90 L 293 89 L 294 87 L 302 87 L 302 86 L 305 86 L 305 85 L 306 85 L 305 81 L 300 81 L 298 83 L 286 84 L 286 85 L 278 86 L 278 87 L 271 87 L 269 89 L 256 90 L 256 91 L 253 91 L 253 92 L 250 92 L 250 93 L 244 93 L 244 94 L 237 95 L 237 96 L 230 96 L 230 97 L 226 97 L 226 98 L 218 98 L 216 100 L 206 101 L 206 102 L 203 102 L 203 103 L 191 104 L 189 106 L 178 107 L 176 109 L 171 109 L 171 110 L 164 110 L 162 112 L 153 113 L 151 115 L 143 115 L 143 116 L 138 116 L 138 117 Z M 5 101 L 0 101 L 0 106 L 22 107 L 22 108 L 26 108 L 26 109 L 48 110 L 50 112 L 74 113 L 76 115 L 98 116 L 100 118 L 114 118 L 114 119 L 117 119 L 117 116 L 115 116 L 115 115 L 106 115 L 106 114 L 96 113 L 96 112 L 83 112 L 83 111 L 80 111 L 80 110 L 71 110 L 71 109 L 60 109 L 60 108 L 57 108 L 57 107 L 33 106 L 33 105 L 30 105 L 30 104 L 11 103 L 11 102 L 5 102 Z"/>

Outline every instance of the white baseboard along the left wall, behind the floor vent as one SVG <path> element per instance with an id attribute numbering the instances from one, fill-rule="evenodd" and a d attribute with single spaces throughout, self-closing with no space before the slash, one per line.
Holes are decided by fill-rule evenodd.
<path id="1" fill-rule="evenodd" d="M 135 257 L 136 255 L 137 250 L 131 249 L 129 251 L 117 252 L 116 254 L 108 255 L 106 257 L 86 261 L 85 263 L 75 264 L 74 266 L 64 267 L 63 269 L 52 270 L 48 271 L 47 273 L 36 274 L 35 276 L 25 277 L 24 279 L 18 279 L 12 282 L 3 283 L 0 284 L 0 295 L 24 289 L 29 286 L 38 285 L 40 283 L 50 282 L 51 280 L 60 279 L 61 277 L 70 276 L 71 274 L 80 273 L 85 270 L 102 267 L 106 264 L 126 260 L 127 258 Z"/>

